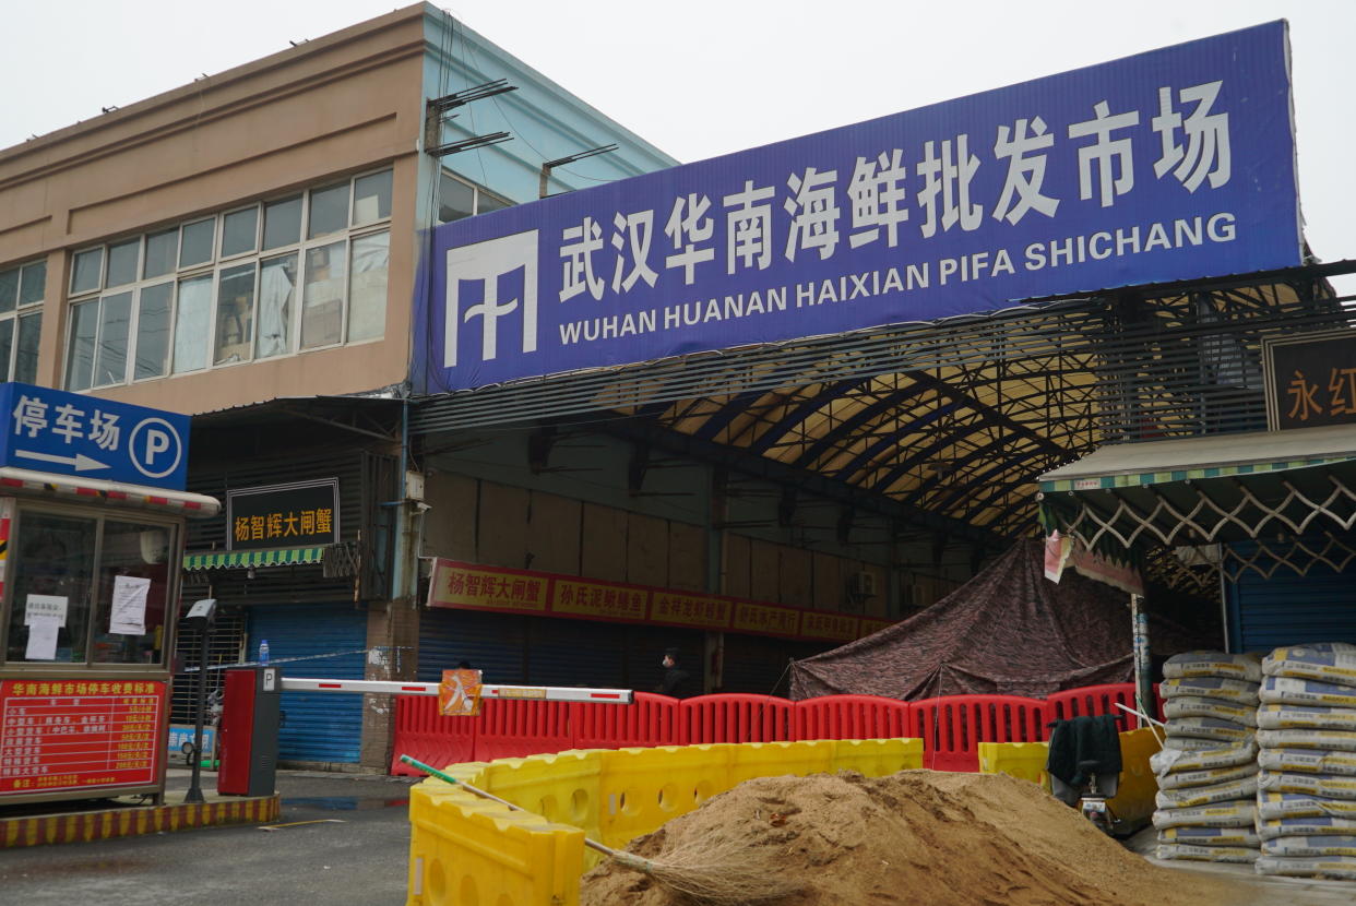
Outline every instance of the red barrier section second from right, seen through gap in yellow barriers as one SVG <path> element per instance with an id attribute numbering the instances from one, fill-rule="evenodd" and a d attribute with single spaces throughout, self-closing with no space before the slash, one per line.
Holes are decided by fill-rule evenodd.
<path id="1" fill-rule="evenodd" d="M 1045 703 L 1020 696 L 946 696 L 909 705 L 909 735 L 923 741 L 923 768 L 979 770 L 982 742 L 1044 739 Z"/>

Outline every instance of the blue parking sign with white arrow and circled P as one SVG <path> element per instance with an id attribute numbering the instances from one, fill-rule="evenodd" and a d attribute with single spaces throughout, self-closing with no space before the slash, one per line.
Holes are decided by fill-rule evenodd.
<path id="1" fill-rule="evenodd" d="M 30 384 L 0 384 L 0 465 L 182 491 L 188 416 Z"/>

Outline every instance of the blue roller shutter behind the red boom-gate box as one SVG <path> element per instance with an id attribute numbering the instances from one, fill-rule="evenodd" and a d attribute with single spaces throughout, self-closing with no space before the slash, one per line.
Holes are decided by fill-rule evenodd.
<path id="1" fill-rule="evenodd" d="M 367 613 L 351 604 L 255 606 L 245 648 L 251 658 L 258 656 L 260 639 L 268 640 L 268 659 L 283 677 L 363 678 Z M 282 711 L 279 761 L 358 761 L 362 696 L 285 692 Z"/>

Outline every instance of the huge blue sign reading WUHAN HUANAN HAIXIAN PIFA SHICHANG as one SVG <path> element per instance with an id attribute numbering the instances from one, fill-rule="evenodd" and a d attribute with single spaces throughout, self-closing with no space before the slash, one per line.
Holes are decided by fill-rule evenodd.
<path id="1" fill-rule="evenodd" d="M 1287 26 L 433 231 L 422 392 L 1300 263 Z"/>

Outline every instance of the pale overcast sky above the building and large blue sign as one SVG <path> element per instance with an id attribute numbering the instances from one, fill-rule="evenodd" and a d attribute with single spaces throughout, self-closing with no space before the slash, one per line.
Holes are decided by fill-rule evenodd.
<path id="1" fill-rule="evenodd" d="M 0 148 L 392 8 L 391 0 L 8 4 Z M 445 8 L 682 161 L 1285 18 L 1306 235 L 1322 260 L 1356 258 L 1352 0 L 457 0 Z M 1338 286 L 1356 293 L 1356 279 Z"/>

